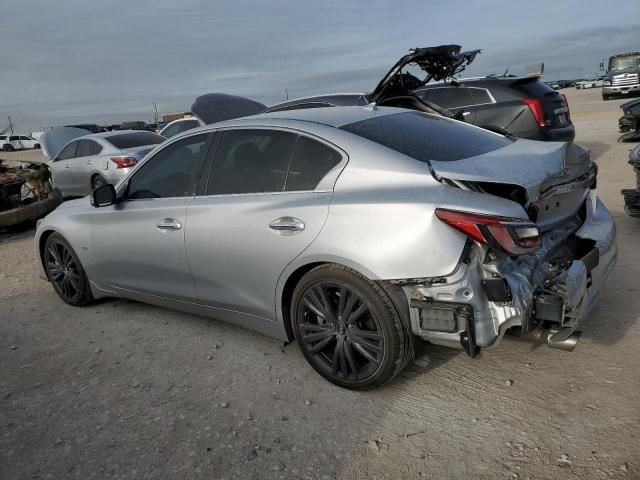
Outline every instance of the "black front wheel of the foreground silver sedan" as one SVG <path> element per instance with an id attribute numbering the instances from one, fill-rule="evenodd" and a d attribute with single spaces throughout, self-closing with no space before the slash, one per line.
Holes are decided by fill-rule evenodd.
<path id="1" fill-rule="evenodd" d="M 62 300 L 74 306 L 93 302 L 89 278 L 73 248 L 62 235 L 53 233 L 47 238 L 43 257 L 47 277 Z"/>

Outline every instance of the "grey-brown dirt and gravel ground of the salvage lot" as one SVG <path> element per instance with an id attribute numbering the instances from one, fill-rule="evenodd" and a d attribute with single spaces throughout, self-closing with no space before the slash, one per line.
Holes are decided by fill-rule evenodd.
<path id="1" fill-rule="evenodd" d="M 296 345 L 120 300 L 73 308 L 0 239 L 0 478 L 640 478 L 640 221 L 617 105 L 565 90 L 620 257 L 572 353 L 433 347 L 374 392 Z"/>

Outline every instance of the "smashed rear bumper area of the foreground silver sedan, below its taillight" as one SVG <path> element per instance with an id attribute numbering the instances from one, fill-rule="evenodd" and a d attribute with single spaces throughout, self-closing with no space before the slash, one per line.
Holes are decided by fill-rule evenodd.
<path id="1" fill-rule="evenodd" d="M 585 211 L 545 233 L 533 253 L 509 257 L 469 243 L 451 275 L 406 283 L 413 333 L 474 356 L 504 333 L 539 326 L 574 332 L 617 258 L 615 224 L 595 191 Z"/>

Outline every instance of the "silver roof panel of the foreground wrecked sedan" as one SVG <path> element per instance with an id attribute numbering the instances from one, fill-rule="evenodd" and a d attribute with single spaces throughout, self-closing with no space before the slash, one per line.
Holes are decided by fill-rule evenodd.
<path id="1" fill-rule="evenodd" d="M 392 115 L 394 113 L 409 112 L 403 108 L 395 107 L 320 107 L 300 110 L 283 110 L 279 112 L 260 113 L 249 117 L 241 117 L 225 122 L 212 124 L 212 127 L 259 124 L 262 120 L 285 120 L 293 122 L 308 122 L 327 125 L 329 127 L 342 127 L 350 123 L 368 120 L 376 117 Z M 271 122 L 267 122 L 271 124 Z"/>

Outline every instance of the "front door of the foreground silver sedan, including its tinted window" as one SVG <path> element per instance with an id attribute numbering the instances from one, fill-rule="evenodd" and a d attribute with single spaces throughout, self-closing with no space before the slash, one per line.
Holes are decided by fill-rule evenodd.
<path id="1" fill-rule="evenodd" d="M 185 226 L 211 138 L 200 134 L 170 143 L 131 175 L 123 201 L 91 214 L 97 260 L 92 278 L 100 287 L 195 299 Z"/>

